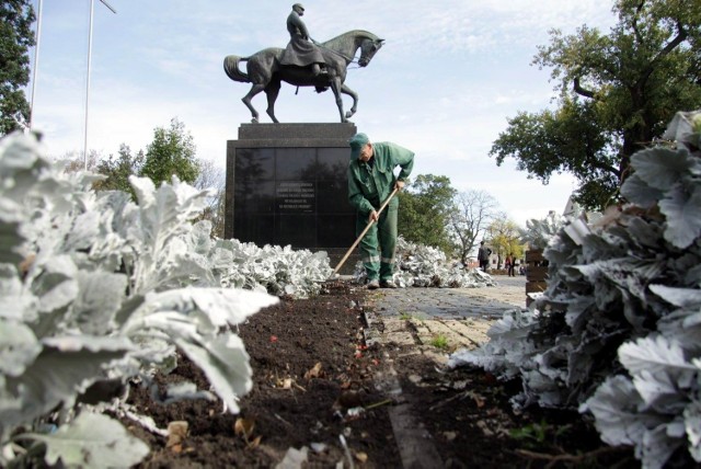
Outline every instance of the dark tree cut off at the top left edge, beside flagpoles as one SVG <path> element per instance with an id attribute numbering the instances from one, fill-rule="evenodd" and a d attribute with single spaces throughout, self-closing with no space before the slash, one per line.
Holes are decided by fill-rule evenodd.
<path id="1" fill-rule="evenodd" d="M 0 3 L 0 135 L 25 127 L 30 119 L 30 103 L 22 87 L 30 82 L 34 20 L 30 0 Z"/>

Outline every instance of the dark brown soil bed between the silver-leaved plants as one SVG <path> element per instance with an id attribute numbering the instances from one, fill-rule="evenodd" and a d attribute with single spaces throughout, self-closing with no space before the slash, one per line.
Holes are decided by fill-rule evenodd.
<path id="1" fill-rule="evenodd" d="M 159 427 L 188 422 L 185 439 L 170 446 L 166 438 L 125 421 L 151 446 L 140 467 L 267 468 L 289 448 L 307 447 L 309 468 L 350 467 L 347 455 L 357 468 L 401 468 L 402 442 L 395 441 L 389 412 L 400 401 L 410 404 L 447 468 L 639 467 L 630 449 L 602 445 L 590 422 L 576 413 L 515 413 L 508 399 L 518 391 L 516 382 L 498 382 L 479 369 L 441 373 L 433 361 L 399 354 L 391 344 L 367 350 L 366 300 L 363 288 L 329 283 L 323 295 L 283 300 L 241 325 L 254 386 L 241 400 L 240 415 L 222 413 L 220 402 L 159 405 L 145 390 L 133 389 L 130 403 Z M 375 387 L 383 361 L 391 361 L 399 374 L 401 397 L 389 398 Z M 158 377 L 161 382 L 183 378 L 208 389 L 185 359 L 171 375 Z M 355 407 L 366 410 L 349 415 L 348 408 Z M 237 432 L 237 422 L 253 428 Z"/>

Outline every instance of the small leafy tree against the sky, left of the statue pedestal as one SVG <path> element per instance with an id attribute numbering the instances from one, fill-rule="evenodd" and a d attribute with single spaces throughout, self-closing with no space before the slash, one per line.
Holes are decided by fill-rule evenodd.
<path id="1" fill-rule="evenodd" d="M 171 119 L 170 128 L 153 130 L 153 141 L 147 146 L 140 175 L 150 178 L 157 186 L 163 181 L 170 182 L 173 175 L 188 184 L 197 180 L 199 163 L 195 158 L 195 144 L 177 118 Z"/>

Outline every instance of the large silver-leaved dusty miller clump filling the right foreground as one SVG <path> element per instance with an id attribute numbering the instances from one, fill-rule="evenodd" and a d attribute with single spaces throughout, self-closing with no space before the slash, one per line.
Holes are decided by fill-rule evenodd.
<path id="1" fill-rule="evenodd" d="M 701 112 L 664 137 L 632 157 L 625 205 L 550 239 L 537 309 L 450 363 L 519 376 L 518 405 L 578 407 L 645 468 L 701 462 Z"/>

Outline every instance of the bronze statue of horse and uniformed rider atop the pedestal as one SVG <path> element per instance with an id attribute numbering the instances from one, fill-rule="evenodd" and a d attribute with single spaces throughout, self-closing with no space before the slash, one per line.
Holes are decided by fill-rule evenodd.
<path id="1" fill-rule="evenodd" d="M 360 58 L 357 64 L 366 67 L 382 47 L 384 39 L 367 31 L 354 30 L 325 43 L 317 43 L 309 37 L 300 19 L 303 12 L 301 4 L 292 5 L 292 12 L 287 19 L 287 31 L 290 34 L 287 48 L 268 47 L 249 57 L 230 55 L 223 59 L 223 69 L 230 79 L 252 83 L 251 90 L 241 101 L 251 110 L 253 123 L 258 122 L 258 113 L 251 100 L 262 91 L 267 96 L 267 115 L 274 123 L 279 123 L 275 117 L 275 100 L 283 81 L 296 87 L 314 87 L 318 92 L 331 88 L 341 122 L 348 122 L 357 111 L 358 94 L 345 84 L 347 67 L 355 62 L 358 49 Z M 245 62 L 245 72 L 239 68 L 240 62 Z M 345 114 L 341 93 L 353 98 L 353 106 Z"/>

